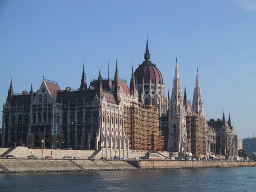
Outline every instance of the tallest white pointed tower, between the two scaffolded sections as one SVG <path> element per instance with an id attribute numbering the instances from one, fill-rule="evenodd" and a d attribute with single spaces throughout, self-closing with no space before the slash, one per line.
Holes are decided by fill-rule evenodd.
<path id="1" fill-rule="evenodd" d="M 186 116 L 181 91 L 181 80 L 176 58 L 175 74 L 173 80 L 173 93 L 170 101 L 169 110 L 169 138 L 168 150 L 173 156 L 184 156 L 190 153 L 190 146 L 186 133 Z"/>

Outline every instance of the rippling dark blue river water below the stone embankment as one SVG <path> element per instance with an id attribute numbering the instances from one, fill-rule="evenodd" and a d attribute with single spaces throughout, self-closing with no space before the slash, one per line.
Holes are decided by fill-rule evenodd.
<path id="1" fill-rule="evenodd" d="M 0 173 L 0 191 L 256 191 L 256 167 Z"/>

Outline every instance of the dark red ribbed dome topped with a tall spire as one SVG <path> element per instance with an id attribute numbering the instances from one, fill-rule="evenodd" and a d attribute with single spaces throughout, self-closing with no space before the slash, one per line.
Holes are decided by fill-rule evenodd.
<path id="1" fill-rule="evenodd" d="M 163 77 L 159 69 L 150 61 L 150 54 L 148 50 L 148 40 L 146 46 L 145 53 L 145 61 L 139 65 L 139 67 L 135 70 L 135 82 L 140 84 L 144 81 L 144 83 L 153 83 L 153 84 L 163 84 Z M 149 82 L 149 80 L 151 82 Z"/>

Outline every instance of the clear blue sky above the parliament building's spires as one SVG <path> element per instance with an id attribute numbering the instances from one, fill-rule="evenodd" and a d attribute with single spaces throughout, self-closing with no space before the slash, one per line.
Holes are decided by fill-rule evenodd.
<path id="1" fill-rule="evenodd" d="M 182 89 L 192 100 L 198 67 L 205 115 L 231 114 L 241 138 L 256 132 L 256 2 L 233 1 L 0 1 L 0 101 L 10 79 L 14 93 L 37 91 L 45 79 L 61 89 L 114 76 L 130 80 L 144 60 L 148 32 L 151 61 L 171 90 L 175 58 Z M 2 113 L 0 114 L 2 116 Z M 1 120 L 0 120 L 1 121 Z"/>

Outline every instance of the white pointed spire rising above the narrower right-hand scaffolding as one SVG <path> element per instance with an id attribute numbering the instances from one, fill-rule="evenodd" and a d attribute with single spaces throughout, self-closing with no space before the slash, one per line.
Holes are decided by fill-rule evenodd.
<path id="1" fill-rule="evenodd" d="M 198 69 L 196 74 L 196 86 L 194 88 L 194 94 L 193 94 L 193 103 L 192 103 L 192 109 L 194 113 L 199 114 L 200 116 L 204 115 L 204 103 L 201 93 L 201 87 L 199 82 L 199 75 L 198 75 Z"/>

